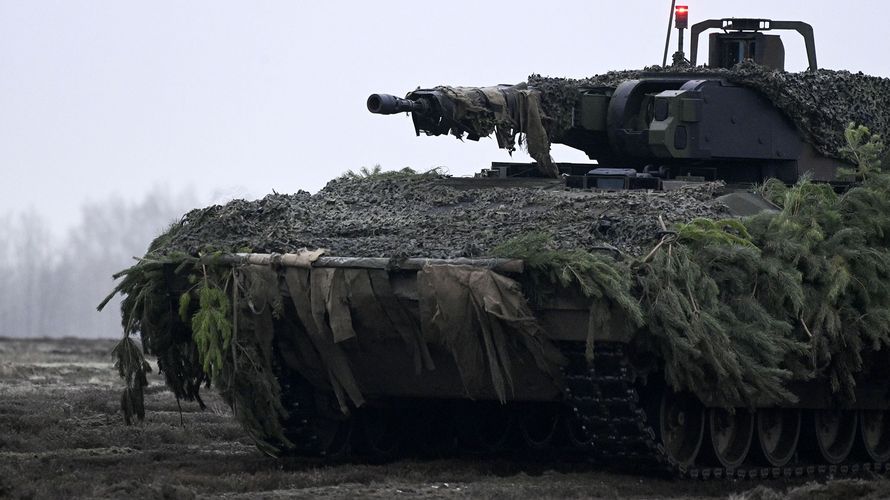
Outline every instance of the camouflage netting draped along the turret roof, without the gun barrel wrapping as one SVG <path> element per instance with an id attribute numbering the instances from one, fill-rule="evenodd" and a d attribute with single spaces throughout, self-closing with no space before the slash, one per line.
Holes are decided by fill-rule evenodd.
<path id="1" fill-rule="evenodd" d="M 578 102 L 580 89 L 615 88 L 629 79 L 658 72 L 717 75 L 757 89 L 788 115 L 807 140 L 826 156 L 837 156 L 844 145 L 843 131 L 849 123 L 864 125 L 884 136 L 890 132 L 890 106 L 887 105 L 890 102 L 890 79 L 848 71 L 820 69 L 789 73 L 750 62 L 731 70 L 655 66 L 640 71 L 612 71 L 578 80 L 532 75 L 528 85 L 541 92 L 547 132 L 552 142 L 559 142 L 571 127 L 572 109 Z"/>

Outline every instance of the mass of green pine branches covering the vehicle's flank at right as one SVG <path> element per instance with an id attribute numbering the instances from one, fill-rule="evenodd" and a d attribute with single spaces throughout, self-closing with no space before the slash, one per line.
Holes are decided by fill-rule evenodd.
<path id="1" fill-rule="evenodd" d="M 680 224 L 637 262 L 597 255 L 583 266 L 585 252 L 549 250 L 540 235 L 507 242 L 500 255 L 526 260 L 533 287 L 609 288 L 609 277 L 632 276 L 630 288 L 625 279 L 612 290 L 638 302 L 636 342 L 674 389 L 772 404 L 793 400 L 788 381 L 824 377 L 852 400 L 867 360 L 890 346 L 890 175 L 879 136 L 851 125 L 845 137 L 859 183 L 843 194 L 808 178 L 770 180 L 760 192 L 778 213 Z M 615 295 L 593 290 L 594 307 Z"/>

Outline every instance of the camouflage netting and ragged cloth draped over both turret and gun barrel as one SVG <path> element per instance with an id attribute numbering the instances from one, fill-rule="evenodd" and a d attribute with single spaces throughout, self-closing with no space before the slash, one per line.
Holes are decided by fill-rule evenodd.
<path id="1" fill-rule="evenodd" d="M 732 69 L 654 66 L 644 70 L 613 71 L 584 79 L 532 75 L 527 82 L 493 87 L 439 86 L 410 92 L 412 100 L 434 96 L 441 121 L 424 122 L 421 129 L 433 135 L 450 133 L 471 140 L 494 136 L 500 148 L 515 150 L 516 139 L 546 177 L 557 177 L 550 157 L 551 143 L 560 143 L 572 127 L 581 91 L 617 88 L 628 80 L 659 73 L 709 75 L 762 92 L 796 124 L 804 138 L 823 155 L 837 157 L 844 145 L 842 131 L 848 123 L 872 132 L 890 132 L 890 79 L 818 70 L 789 73 L 752 62 Z M 415 116 L 415 126 L 418 123 Z M 443 125 L 444 124 L 444 125 Z"/>

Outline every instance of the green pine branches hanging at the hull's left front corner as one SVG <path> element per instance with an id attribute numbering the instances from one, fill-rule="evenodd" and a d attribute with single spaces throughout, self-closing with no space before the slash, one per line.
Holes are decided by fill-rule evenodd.
<path id="1" fill-rule="evenodd" d="M 145 258 L 115 276 L 121 281 L 99 309 L 115 293 L 124 295 L 124 338 L 113 355 L 126 383 L 121 397 L 125 421 L 145 417 L 143 389 L 151 366 L 131 337 L 138 334 L 145 352 L 157 356 L 177 399 L 197 401 L 203 408 L 200 388 L 212 383 L 257 443 L 287 446 L 279 420 L 286 412 L 271 360 L 265 359 L 259 340 L 248 335 L 250 328 L 236 338 L 236 321 L 249 323 L 251 306 L 240 294 L 233 304 L 233 268 L 217 257 Z M 243 309 L 240 316 L 238 309 Z"/>

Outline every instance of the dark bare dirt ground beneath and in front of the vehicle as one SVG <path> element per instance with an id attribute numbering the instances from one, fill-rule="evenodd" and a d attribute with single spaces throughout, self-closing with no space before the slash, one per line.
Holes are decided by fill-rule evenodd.
<path id="1" fill-rule="evenodd" d="M 160 378 L 146 420 L 127 427 L 107 340 L 0 339 L 3 498 L 886 498 L 890 481 L 672 481 L 528 459 L 403 460 L 384 465 L 276 460 L 229 408 L 180 414 Z M 642 471 L 641 471 L 642 473 Z"/>

